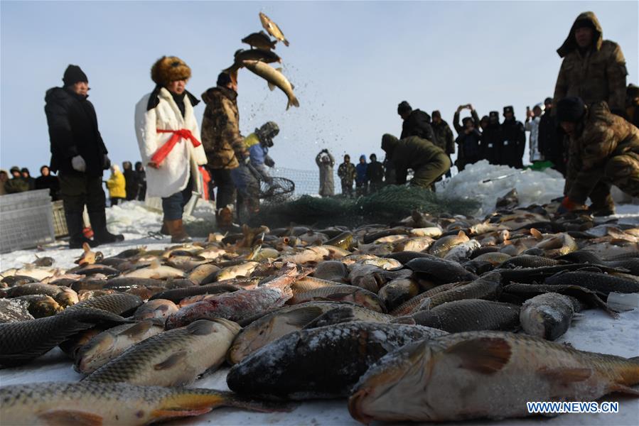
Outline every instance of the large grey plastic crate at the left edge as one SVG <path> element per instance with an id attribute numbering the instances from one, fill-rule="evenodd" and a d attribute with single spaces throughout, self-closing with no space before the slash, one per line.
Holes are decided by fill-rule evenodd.
<path id="1" fill-rule="evenodd" d="M 48 192 L 37 190 L 0 197 L 0 253 L 33 249 L 55 241 Z"/>

